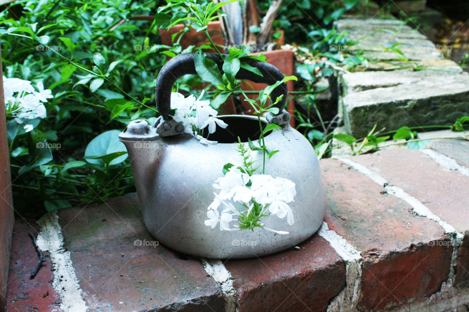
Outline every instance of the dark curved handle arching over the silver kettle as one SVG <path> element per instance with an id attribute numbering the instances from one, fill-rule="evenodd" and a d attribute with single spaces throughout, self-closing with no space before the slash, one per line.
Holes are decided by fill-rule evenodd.
<path id="1" fill-rule="evenodd" d="M 223 72 L 223 63 L 218 54 L 207 53 L 207 58 L 215 61 L 220 71 Z M 262 73 L 262 77 L 244 68 L 240 68 L 236 75 L 237 79 L 248 79 L 253 82 L 266 83 L 269 85 L 272 85 L 279 80 L 283 80 L 283 74 L 272 64 L 250 58 L 243 58 L 242 61 L 258 68 Z M 156 78 L 155 101 L 158 111 L 165 120 L 171 119 L 170 108 L 172 86 L 178 78 L 188 74 L 197 75 L 194 65 L 194 53 L 178 55 L 170 59 L 163 68 L 161 68 L 161 71 Z M 279 114 L 285 106 L 288 95 L 287 85 L 284 82 L 272 91 L 271 98 L 276 99 L 281 95 L 283 95 L 282 100 L 278 101 L 275 105 L 275 107 L 278 108 Z"/>

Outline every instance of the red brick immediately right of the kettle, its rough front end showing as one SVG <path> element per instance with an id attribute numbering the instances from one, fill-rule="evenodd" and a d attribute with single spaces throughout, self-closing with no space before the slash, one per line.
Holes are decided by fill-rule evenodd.
<path id="1" fill-rule="evenodd" d="M 412 215 L 407 203 L 348 165 L 333 159 L 320 165 L 325 221 L 363 257 L 362 308 L 383 309 L 437 292 L 448 278 L 452 252 L 443 229 Z"/>

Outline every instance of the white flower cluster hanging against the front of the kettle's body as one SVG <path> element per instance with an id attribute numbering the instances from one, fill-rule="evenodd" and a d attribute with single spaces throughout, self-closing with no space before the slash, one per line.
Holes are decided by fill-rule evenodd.
<path id="1" fill-rule="evenodd" d="M 205 225 L 214 228 L 218 222 L 220 230 L 239 230 L 251 228 L 251 221 L 257 222 L 261 216 L 277 215 L 279 218 L 287 218 L 287 223 L 294 223 L 292 209 L 288 205 L 296 195 L 295 183 L 281 177 L 273 177 L 265 174 L 249 175 L 241 167 L 231 167 L 229 171 L 218 178 L 213 187 L 220 190 L 208 207 L 208 220 Z M 243 211 L 235 208 L 231 202 L 241 203 Z M 241 205 L 238 205 L 241 207 Z M 221 207 L 220 207 L 221 206 Z M 221 213 L 219 208 L 222 209 Z M 234 218 L 235 217 L 235 218 Z M 239 224 L 230 228 L 230 222 L 238 219 Z M 244 226 L 243 226 L 244 223 Z M 254 225 L 251 222 L 252 225 Z M 266 230 L 278 234 L 288 234 L 285 231 L 268 229 L 262 223 L 258 225 Z"/>

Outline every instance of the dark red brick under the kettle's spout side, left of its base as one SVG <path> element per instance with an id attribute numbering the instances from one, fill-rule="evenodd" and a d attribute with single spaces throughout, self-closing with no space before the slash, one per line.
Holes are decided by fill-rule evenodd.
<path id="1" fill-rule="evenodd" d="M 91 311 L 223 311 L 218 285 L 199 260 L 183 260 L 161 245 L 134 245 L 154 240 L 137 206 L 131 194 L 58 212 Z"/>

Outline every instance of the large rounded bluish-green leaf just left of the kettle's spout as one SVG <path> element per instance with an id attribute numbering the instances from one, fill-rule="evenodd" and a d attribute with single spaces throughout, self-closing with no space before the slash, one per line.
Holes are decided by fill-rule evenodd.
<path id="1" fill-rule="evenodd" d="M 126 152 L 126 146 L 124 145 L 124 143 L 119 141 L 119 133 L 121 133 L 120 130 L 109 130 L 93 138 L 91 142 L 88 143 L 85 149 L 85 157 L 87 157 L 86 161 L 92 164 L 102 165 L 102 159 L 92 159 L 89 157 L 101 157 L 116 152 Z M 121 154 L 121 156 L 115 157 L 114 159 L 109 161 L 109 165 L 112 166 L 120 164 L 121 162 L 126 160 L 127 157 L 127 154 Z"/>

